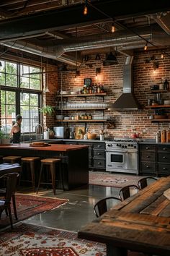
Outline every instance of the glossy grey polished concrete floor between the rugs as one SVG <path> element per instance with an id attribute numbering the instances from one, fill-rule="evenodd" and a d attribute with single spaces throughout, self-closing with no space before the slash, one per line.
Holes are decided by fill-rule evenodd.
<path id="1" fill-rule="evenodd" d="M 119 188 L 115 187 L 89 185 L 65 192 L 56 190 L 56 195 L 54 196 L 51 189 L 44 189 L 38 193 L 39 196 L 67 199 L 68 202 L 59 208 L 40 213 L 22 222 L 55 229 L 79 231 L 82 226 L 96 218 L 93 212 L 94 204 L 110 195 L 117 197 L 119 190 Z M 32 194 L 28 190 L 24 191 L 24 189 L 20 192 Z M 35 195 L 35 193 L 32 195 Z"/>

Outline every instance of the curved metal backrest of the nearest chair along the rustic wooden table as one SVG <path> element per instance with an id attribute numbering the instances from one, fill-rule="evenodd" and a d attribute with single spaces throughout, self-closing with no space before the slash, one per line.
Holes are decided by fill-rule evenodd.
<path id="1" fill-rule="evenodd" d="M 102 200 L 99 200 L 95 205 L 94 205 L 94 213 L 97 216 L 101 216 L 103 213 L 106 213 L 107 210 L 113 208 L 115 205 L 117 205 L 118 202 L 121 200 L 117 197 L 106 197 Z"/>

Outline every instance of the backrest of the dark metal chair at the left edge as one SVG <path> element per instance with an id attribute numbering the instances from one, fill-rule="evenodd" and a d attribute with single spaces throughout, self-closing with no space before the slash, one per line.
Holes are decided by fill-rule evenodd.
<path id="1" fill-rule="evenodd" d="M 12 194 L 16 191 L 17 188 L 17 179 L 18 179 L 19 173 L 12 172 L 9 174 L 4 174 L 1 176 L 1 178 L 5 179 L 6 183 L 6 193 L 5 193 L 5 202 L 9 203 L 12 199 Z"/>

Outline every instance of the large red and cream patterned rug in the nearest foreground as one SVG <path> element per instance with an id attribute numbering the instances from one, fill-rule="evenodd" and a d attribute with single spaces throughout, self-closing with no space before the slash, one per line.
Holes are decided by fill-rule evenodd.
<path id="1" fill-rule="evenodd" d="M 104 244 L 78 239 L 75 232 L 17 223 L 0 232 L 0 256 L 106 256 Z M 128 256 L 144 256 L 128 252 Z"/>

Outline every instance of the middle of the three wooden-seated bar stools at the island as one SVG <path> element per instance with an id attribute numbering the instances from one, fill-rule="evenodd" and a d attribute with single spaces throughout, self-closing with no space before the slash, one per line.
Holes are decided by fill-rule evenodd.
<path id="1" fill-rule="evenodd" d="M 40 161 L 40 158 L 32 157 L 32 156 L 21 158 L 22 171 L 24 170 L 24 166 L 26 166 L 26 168 L 31 171 L 32 187 L 34 188 L 34 191 L 35 191 L 35 164 L 37 163 L 37 161 Z"/>

